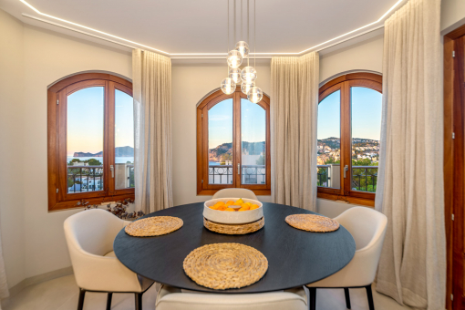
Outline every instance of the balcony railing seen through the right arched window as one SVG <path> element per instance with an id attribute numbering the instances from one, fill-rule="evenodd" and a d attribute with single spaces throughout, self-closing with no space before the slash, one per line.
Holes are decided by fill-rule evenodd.
<path id="1" fill-rule="evenodd" d="M 333 169 L 336 166 L 337 169 Z M 340 188 L 339 165 L 317 165 L 317 186 Z M 352 166 L 352 191 L 377 191 L 377 166 Z"/>

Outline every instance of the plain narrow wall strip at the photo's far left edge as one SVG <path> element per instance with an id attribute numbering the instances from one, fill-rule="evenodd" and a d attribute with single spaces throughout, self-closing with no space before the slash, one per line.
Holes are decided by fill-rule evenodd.
<path id="1" fill-rule="evenodd" d="M 25 277 L 23 25 L 0 10 L 0 29 L 0 227 L 11 287 Z"/>

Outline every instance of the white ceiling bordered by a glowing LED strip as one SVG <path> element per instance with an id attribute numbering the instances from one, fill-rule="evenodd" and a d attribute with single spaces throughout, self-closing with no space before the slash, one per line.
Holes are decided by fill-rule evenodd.
<path id="1" fill-rule="evenodd" d="M 156 48 L 169 54 L 227 52 L 226 0 L 26 0 L 42 15 L 19 0 L 0 0 L 0 7 L 26 23 L 38 17 L 57 25 L 68 26 L 91 35 L 110 38 L 131 47 Z M 310 47 L 376 22 L 392 14 L 404 1 L 398 0 L 257 0 L 256 52 L 300 53 Z M 243 36 L 246 40 L 246 4 L 243 0 Z M 253 48 L 253 0 L 251 34 Z M 241 38 L 241 0 L 236 0 L 236 41 Z M 230 0 L 230 23 L 233 29 L 233 0 Z M 379 28 L 386 15 L 374 25 L 337 38 L 320 47 Z M 57 20 L 57 17 L 62 20 Z M 66 21 L 87 26 L 98 33 Z M 35 21 L 36 22 L 36 21 Z M 35 25 L 47 25 L 37 23 Z M 48 25 L 50 26 L 50 25 Z M 233 46 L 233 30 L 230 34 Z M 122 38 L 132 42 L 124 41 Z M 316 47 L 315 47 L 316 48 Z M 172 55 L 171 57 L 176 57 Z M 180 56 L 178 56 L 180 57 Z"/>

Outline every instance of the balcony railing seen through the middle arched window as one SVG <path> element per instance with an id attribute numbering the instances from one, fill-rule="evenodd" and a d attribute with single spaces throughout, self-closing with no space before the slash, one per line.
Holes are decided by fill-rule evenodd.
<path id="1" fill-rule="evenodd" d="M 237 173 L 237 172 L 236 172 Z M 233 165 L 209 165 L 209 184 L 233 184 Z M 265 184 L 266 167 L 264 165 L 243 165 L 243 184 Z"/>

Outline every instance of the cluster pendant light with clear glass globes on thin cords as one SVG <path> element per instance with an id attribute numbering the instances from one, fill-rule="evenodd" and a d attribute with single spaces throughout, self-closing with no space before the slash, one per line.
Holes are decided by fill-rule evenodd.
<path id="1" fill-rule="evenodd" d="M 241 1 L 241 36 L 243 36 L 243 1 Z M 227 0 L 228 3 L 228 78 L 224 78 L 222 80 L 222 92 L 226 95 L 231 95 L 235 91 L 236 86 L 242 82 L 241 90 L 242 92 L 247 95 L 247 98 L 252 101 L 253 103 L 258 103 L 263 98 L 263 91 L 261 88 L 257 88 L 255 86 L 255 80 L 257 78 L 257 71 L 254 68 L 256 63 L 256 53 L 253 52 L 253 66 L 249 66 L 249 53 L 250 47 L 246 41 L 239 41 L 236 43 L 233 50 L 229 50 L 229 6 L 230 0 Z M 236 39 L 236 0 L 233 0 L 234 5 L 234 14 L 233 14 L 233 33 L 234 33 L 234 41 Z M 255 48 L 255 0 L 253 0 L 253 48 Z M 249 0 L 247 0 L 247 41 L 249 40 Z M 240 68 L 243 59 L 247 59 L 247 66 Z"/>

